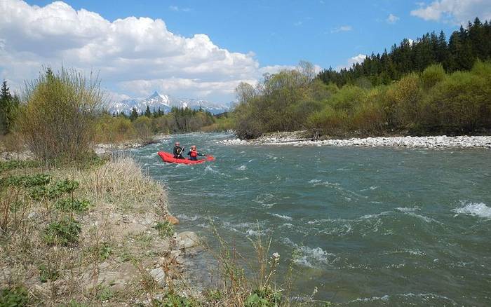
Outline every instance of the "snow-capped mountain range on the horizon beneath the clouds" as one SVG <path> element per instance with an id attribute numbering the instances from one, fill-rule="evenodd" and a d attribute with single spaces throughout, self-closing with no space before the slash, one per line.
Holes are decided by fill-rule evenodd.
<path id="1" fill-rule="evenodd" d="M 150 111 L 161 109 L 164 113 L 168 113 L 172 107 L 188 107 L 190 109 L 199 109 L 201 107 L 206 111 L 210 111 L 212 114 L 230 111 L 230 107 L 227 105 L 214 104 L 207 100 L 174 98 L 169 95 L 160 95 L 155 91 L 152 95 L 144 99 L 127 99 L 113 102 L 109 105 L 109 112 L 125 112 L 128 114 L 135 107 L 138 112 L 143 113 L 147 109 L 147 106 L 150 108 Z"/>

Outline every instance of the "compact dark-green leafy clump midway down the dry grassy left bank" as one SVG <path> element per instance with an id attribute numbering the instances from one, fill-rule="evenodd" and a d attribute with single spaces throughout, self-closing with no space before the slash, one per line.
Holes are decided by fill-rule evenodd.
<path id="1" fill-rule="evenodd" d="M 72 217 L 64 217 L 59 221 L 53 221 L 43 233 L 43 240 L 48 245 L 67 246 L 79 240 L 81 226 L 79 221 Z"/>

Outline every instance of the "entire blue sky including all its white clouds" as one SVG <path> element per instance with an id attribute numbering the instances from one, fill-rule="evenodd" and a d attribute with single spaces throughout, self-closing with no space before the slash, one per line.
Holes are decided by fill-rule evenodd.
<path id="1" fill-rule="evenodd" d="M 491 20 L 491 0 L 0 0 L 0 79 L 19 90 L 63 65 L 99 74 L 111 100 L 227 103 L 238 83 L 300 60 L 349 67 L 476 17 Z"/>

